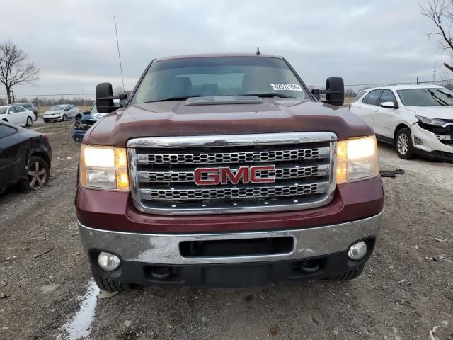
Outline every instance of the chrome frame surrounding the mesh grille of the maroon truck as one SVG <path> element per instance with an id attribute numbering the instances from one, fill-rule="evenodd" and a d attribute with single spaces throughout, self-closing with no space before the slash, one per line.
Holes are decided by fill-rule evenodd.
<path id="1" fill-rule="evenodd" d="M 129 140 L 127 142 L 127 153 L 130 174 L 130 192 L 135 207 L 142 212 L 156 215 L 207 215 L 221 213 L 245 213 L 245 212 L 273 212 L 284 210 L 302 210 L 327 205 L 333 200 L 336 188 L 336 140 L 333 132 L 289 132 L 289 133 L 268 133 L 256 135 L 219 135 L 219 136 L 187 136 L 187 137 L 144 137 Z M 222 207 L 207 207 L 198 205 L 196 207 L 184 207 L 183 205 L 172 205 L 171 208 L 162 208 L 156 205 L 143 203 L 139 192 L 139 179 L 137 176 L 137 159 L 139 147 L 175 148 L 175 147 L 230 147 L 240 145 L 303 145 L 304 143 L 330 142 L 329 157 L 331 176 L 328 183 L 328 190 L 313 200 L 292 203 L 262 202 L 260 205 L 246 205 L 247 203 L 234 203 Z M 137 149 L 135 149 L 137 147 Z M 241 205 L 243 204 L 243 205 Z"/>

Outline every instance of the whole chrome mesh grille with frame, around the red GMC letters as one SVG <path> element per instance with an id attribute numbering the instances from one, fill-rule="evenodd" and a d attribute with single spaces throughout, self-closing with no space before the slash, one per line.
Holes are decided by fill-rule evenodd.
<path id="1" fill-rule="evenodd" d="M 127 147 L 132 198 L 144 212 L 297 210 L 333 198 L 336 135 L 331 132 L 149 137 L 130 140 Z M 273 176 L 275 183 L 197 186 L 195 169 L 204 164 L 233 173 L 243 166 L 273 165 L 275 170 L 257 175 Z"/>

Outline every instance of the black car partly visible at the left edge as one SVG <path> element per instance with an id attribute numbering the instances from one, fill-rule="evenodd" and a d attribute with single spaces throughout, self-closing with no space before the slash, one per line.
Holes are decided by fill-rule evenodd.
<path id="1" fill-rule="evenodd" d="M 15 183 L 26 191 L 46 186 L 51 161 L 46 135 L 0 122 L 0 193 Z"/>

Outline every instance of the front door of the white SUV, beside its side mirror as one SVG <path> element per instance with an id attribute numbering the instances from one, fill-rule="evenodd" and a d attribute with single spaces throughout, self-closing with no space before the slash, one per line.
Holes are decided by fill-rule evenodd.
<path id="1" fill-rule="evenodd" d="M 381 103 L 391 101 L 395 104 L 396 108 L 383 108 Z M 378 137 L 386 137 L 393 139 L 393 133 L 398 124 L 399 107 L 396 97 L 390 89 L 384 89 L 379 98 L 379 108 L 376 115 L 373 116 L 374 132 Z"/>

